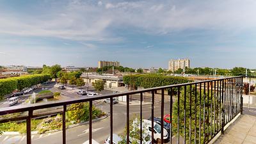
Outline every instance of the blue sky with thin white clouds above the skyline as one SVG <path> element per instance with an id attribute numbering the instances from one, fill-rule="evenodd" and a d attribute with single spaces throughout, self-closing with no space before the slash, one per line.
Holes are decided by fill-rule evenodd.
<path id="1" fill-rule="evenodd" d="M 255 0 L 0 1 L 0 65 L 256 68 L 255 54 Z"/>

